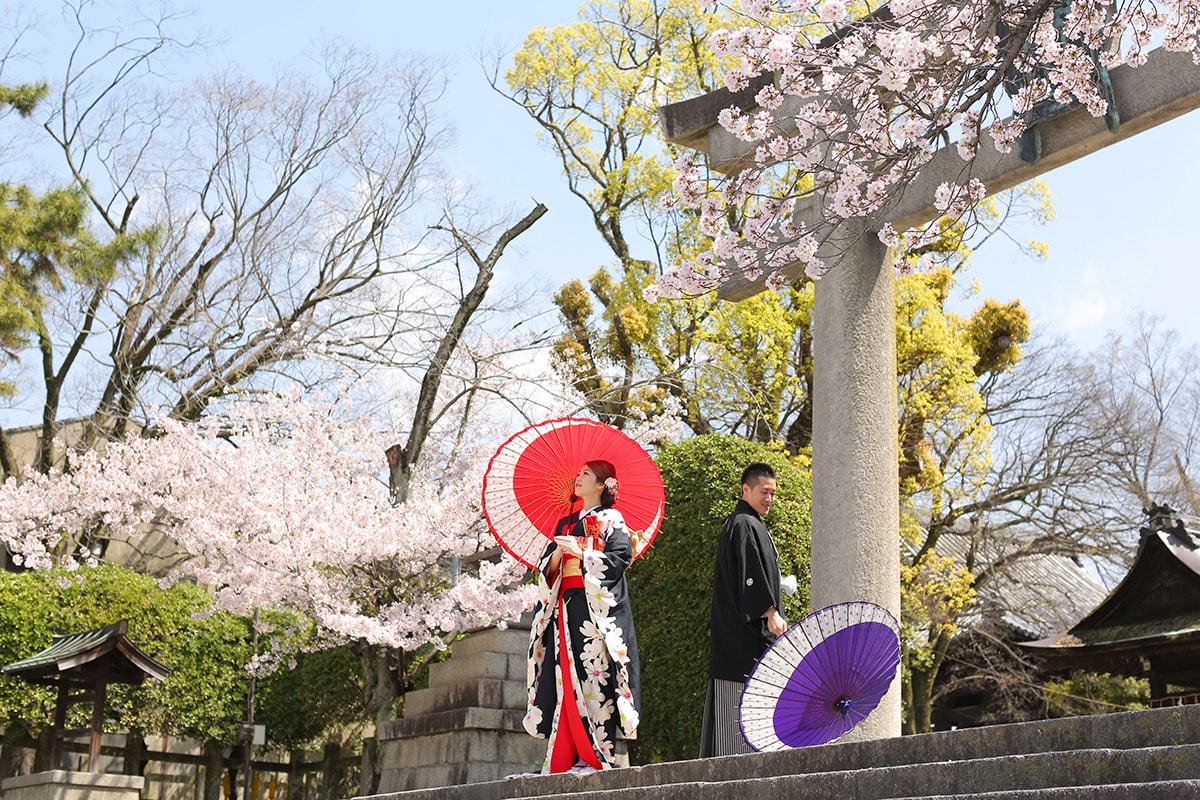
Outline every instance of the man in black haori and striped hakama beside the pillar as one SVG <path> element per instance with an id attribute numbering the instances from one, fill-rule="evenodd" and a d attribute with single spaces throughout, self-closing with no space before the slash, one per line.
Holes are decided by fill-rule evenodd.
<path id="1" fill-rule="evenodd" d="M 746 676 L 787 630 L 779 551 L 762 518 L 775 501 L 775 471 L 754 462 L 742 471 L 742 500 L 721 527 L 713 575 L 708 694 L 700 757 L 754 752 L 742 736 L 738 700 Z"/>

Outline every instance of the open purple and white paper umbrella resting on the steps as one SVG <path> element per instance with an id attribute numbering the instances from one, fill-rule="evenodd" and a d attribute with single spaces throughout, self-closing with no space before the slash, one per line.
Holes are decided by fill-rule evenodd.
<path id="1" fill-rule="evenodd" d="M 900 624 L 868 602 L 828 606 L 793 625 L 746 679 L 742 735 L 757 751 L 823 745 L 866 718 L 900 664 Z"/>

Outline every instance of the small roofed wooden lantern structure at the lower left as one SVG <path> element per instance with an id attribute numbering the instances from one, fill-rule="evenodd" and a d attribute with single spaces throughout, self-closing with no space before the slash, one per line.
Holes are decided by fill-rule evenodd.
<path id="1" fill-rule="evenodd" d="M 61 766 L 65 739 L 89 734 L 88 770 L 96 771 L 109 684 L 138 685 L 148 678 L 161 680 L 170 674 L 167 667 L 130 642 L 127 628 L 128 620 L 122 619 L 95 631 L 55 634 L 50 646 L 41 652 L 0 667 L 0 672 L 10 678 L 58 686 L 54 745 L 50 750 L 52 770 Z M 91 702 L 91 727 L 68 730 L 67 709 L 86 702 Z"/>

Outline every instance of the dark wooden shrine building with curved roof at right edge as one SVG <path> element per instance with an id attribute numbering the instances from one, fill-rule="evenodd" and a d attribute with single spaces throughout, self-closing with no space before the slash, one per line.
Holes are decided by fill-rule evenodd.
<path id="1" fill-rule="evenodd" d="M 1147 510 L 1124 579 L 1064 633 L 1021 648 L 1050 669 L 1150 679 L 1151 706 L 1200 703 L 1200 541 L 1166 505 Z"/>

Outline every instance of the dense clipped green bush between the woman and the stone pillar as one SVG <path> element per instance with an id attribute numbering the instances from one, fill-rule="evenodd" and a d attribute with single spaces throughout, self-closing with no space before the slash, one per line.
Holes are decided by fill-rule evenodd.
<path id="1" fill-rule="evenodd" d="M 708 684 L 708 620 L 721 523 L 740 498 L 742 469 L 774 467 L 779 494 L 767 524 L 784 575 L 799 591 L 784 599 L 785 616 L 809 606 L 811 481 L 808 463 L 779 447 L 728 434 L 692 437 L 656 456 L 666 483 L 667 517 L 647 554 L 629 570 L 629 591 L 642 660 L 642 721 L 631 742 L 637 763 L 695 758 Z"/>

